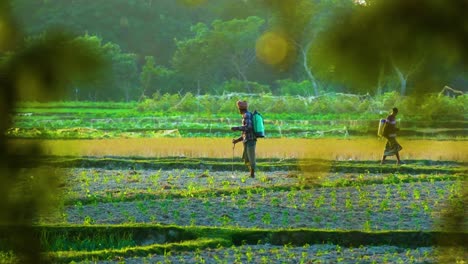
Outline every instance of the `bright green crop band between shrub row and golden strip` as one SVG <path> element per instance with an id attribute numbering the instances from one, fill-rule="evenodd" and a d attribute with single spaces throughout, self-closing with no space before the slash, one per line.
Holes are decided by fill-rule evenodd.
<path id="1" fill-rule="evenodd" d="M 383 116 L 372 117 L 299 113 L 264 113 L 269 137 L 362 136 L 376 134 Z M 19 108 L 13 116 L 11 137 L 22 138 L 116 138 L 116 137 L 232 137 L 229 127 L 238 125 L 240 116 L 207 113 L 140 113 L 129 108 L 105 110 L 75 108 Z M 430 138 L 466 137 L 465 120 L 399 120 L 401 135 Z M 164 131 L 177 130 L 175 134 Z"/>

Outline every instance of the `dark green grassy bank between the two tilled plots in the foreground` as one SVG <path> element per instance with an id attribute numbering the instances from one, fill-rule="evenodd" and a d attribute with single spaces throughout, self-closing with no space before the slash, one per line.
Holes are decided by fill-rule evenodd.
<path id="1" fill-rule="evenodd" d="M 242 228 L 207 228 L 207 227 L 176 227 L 160 225 L 119 225 L 119 226 L 37 226 L 38 235 L 43 242 L 51 245 L 54 240 L 77 238 L 92 238 L 98 234 L 101 237 L 125 235 L 133 238 L 135 246 L 116 248 L 83 249 L 75 248 L 73 243 L 66 250 L 60 248 L 48 250 L 47 256 L 54 263 L 71 261 L 118 260 L 125 257 L 145 257 L 149 254 L 169 254 L 170 252 L 196 251 L 206 248 L 219 248 L 240 245 L 312 245 L 333 244 L 343 247 L 359 246 L 398 246 L 417 248 L 428 246 L 444 246 L 443 241 L 464 241 L 465 232 L 441 231 L 322 231 L 313 229 L 268 230 Z M 147 241 L 148 235 L 177 234 L 179 241 Z M 93 235 L 94 234 L 94 235 Z M 57 236 L 59 235 L 59 236 Z M 95 237 L 94 237 L 95 238 Z M 183 239 L 182 239 L 183 238 Z M 450 245 L 453 246 L 453 245 Z"/>

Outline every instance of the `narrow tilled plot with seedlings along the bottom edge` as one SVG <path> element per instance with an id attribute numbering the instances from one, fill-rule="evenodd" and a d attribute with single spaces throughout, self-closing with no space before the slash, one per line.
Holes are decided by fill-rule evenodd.
<path id="1" fill-rule="evenodd" d="M 116 263 L 101 261 L 99 263 Z M 434 248 L 416 249 L 394 246 L 346 248 L 338 245 L 303 247 L 244 245 L 233 248 L 207 249 L 200 252 L 151 255 L 126 258 L 125 263 L 438 263 Z"/>

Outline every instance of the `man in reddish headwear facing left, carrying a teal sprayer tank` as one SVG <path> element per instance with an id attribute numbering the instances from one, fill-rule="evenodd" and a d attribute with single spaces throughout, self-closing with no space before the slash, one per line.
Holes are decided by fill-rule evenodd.
<path id="1" fill-rule="evenodd" d="M 232 143 L 235 144 L 238 142 L 244 143 L 244 152 L 242 154 L 242 159 L 245 162 L 245 165 L 250 169 L 250 177 L 255 177 L 255 147 L 257 145 L 257 137 L 253 131 L 252 123 L 252 113 L 247 110 L 246 101 L 237 101 L 237 108 L 239 113 L 242 115 L 242 126 L 231 127 L 232 131 L 242 131 L 242 135 L 239 138 L 232 140 Z"/>

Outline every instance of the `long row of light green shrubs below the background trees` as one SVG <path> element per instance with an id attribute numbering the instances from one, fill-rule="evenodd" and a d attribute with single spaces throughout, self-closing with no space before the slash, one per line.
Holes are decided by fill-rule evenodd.
<path id="1" fill-rule="evenodd" d="M 247 100 L 250 110 L 262 113 L 301 113 L 312 115 L 359 114 L 360 116 L 385 115 L 396 106 L 401 116 L 411 116 L 412 120 L 463 120 L 467 116 L 468 96 L 458 98 L 431 94 L 420 97 L 402 97 L 397 93 L 386 93 L 379 97 L 359 97 L 350 95 L 326 95 L 317 98 L 301 96 L 273 96 L 271 94 L 195 96 L 187 93 L 159 93 L 152 99 L 145 99 L 137 105 L 138 111 L 200 112 L 204 114 L 235 114 L 235 101 Z M 377 111 L 378 110 L 378 111 Z"/>

